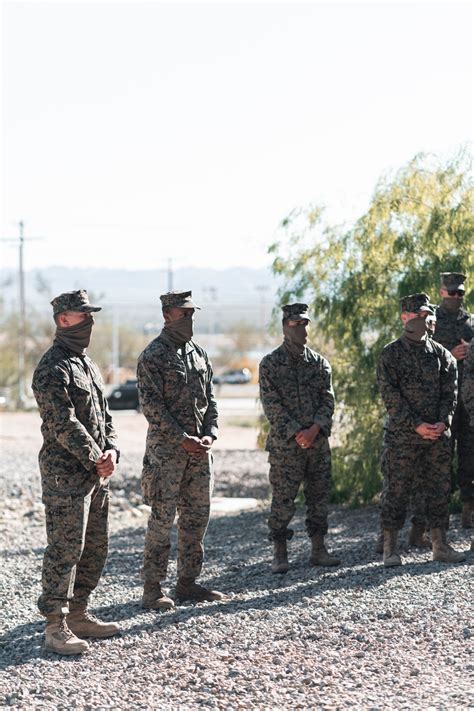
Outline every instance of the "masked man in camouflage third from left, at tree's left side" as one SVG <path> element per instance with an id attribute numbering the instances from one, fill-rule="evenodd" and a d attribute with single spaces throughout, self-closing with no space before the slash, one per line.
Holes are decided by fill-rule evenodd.
<path id="1" fill-rule="evenodd" d="M 305 346 L 309 323 L 306 304 L 283 307 L 284 342 L 260 363 L 260 399 L 270 423 L 271 513 L 269 538 L 274 544 L 272 571 L 288 570 L 288 528 L 300 485 L 307 506 L 306 531 L 312 541 L 313 565 L 338 565 L 324 545 L 328 530 L 331 451 L 328 437 L 334 413 L 331 367 Z"/>

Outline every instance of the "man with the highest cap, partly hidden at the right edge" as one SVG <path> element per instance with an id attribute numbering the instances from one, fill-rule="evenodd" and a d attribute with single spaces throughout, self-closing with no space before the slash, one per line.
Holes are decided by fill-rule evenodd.
<path id="1" fill-rule="evenodd" d="M 472 527 L 474 510 L 474 424 L 462 396 L 463 366 L 471 339 L 474 337 L 474 316 L 462 308 L 466 276 L 459 272 L 441 274 L 442 303 L 436 308 L 434 338 L 456 358 L 459 398 L 452 424 L 452 459 L 457 449 L 457 480 L 463 501 L 462 526 Z M 452 477 L 454 479 L 454 476 Z"/>

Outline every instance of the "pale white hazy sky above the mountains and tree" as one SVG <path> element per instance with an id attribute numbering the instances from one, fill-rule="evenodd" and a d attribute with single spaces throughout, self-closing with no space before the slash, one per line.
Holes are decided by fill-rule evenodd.
<path id="1" fill-rule="evenodd" d="M 45 237 L 26 268 L 262 266 L 292 208 L 354 219 L 469 140 L 472 85 L 469 3 L 4 2 L 2 237 Z"/>

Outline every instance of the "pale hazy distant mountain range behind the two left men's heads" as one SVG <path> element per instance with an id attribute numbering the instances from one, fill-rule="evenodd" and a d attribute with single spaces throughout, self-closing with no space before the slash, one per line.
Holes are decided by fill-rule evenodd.
<path id="1" fill-rule="evenodd" d="M 209 329 L 238 320 L 269 319 L 280 281 L 268 269 L 233 267 L 229 269 L 178 268 L 172 274 L 172 288 L 191 289 L 197 303 L 207 312 Z M 47 312 L 49 302 L 63 291 L 85 288 L 92 299 L 117 311 L 122 323 L 150 320 L 160 315 L 160 294 L 168 291 L 170 275 L 165 270 L 72 269 L 47 267 L 25 272 L 27 308 Z M 16 310 L 18 275 L 2 270 L 0 276 L 3 308 Z M 108 310 L 107 309 L 107 310 Z M 109 312 L 110 313 L 110 312 Z"/>

